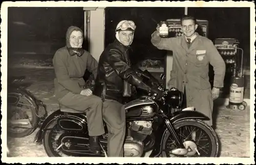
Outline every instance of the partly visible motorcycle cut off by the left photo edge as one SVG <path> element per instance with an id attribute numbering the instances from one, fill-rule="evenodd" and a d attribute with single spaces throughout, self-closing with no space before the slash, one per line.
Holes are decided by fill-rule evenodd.
<path id="1" fill-rule="evenodd" d="M 26 76 L 8 77 L 7 92 L 7 135 L 10 137 L 25 137 L 40 127 L 47 114 L 44 104 L 37 100 L 25 88 Z M 45 112 L 44 115 L 39 112 Z"/>

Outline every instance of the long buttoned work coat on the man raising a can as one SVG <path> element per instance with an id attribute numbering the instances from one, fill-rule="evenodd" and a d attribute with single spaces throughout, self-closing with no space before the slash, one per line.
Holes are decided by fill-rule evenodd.
<path id="1" fill-rule="evenodd" d="M 184 92 L 186 89 L 187 106 L 194 106 L 210 118 L 212 125 L 213 101 L 209 82 L 209 64 L 214 67 L 214 87 L 223 87 L 226 71 L 225 62 L 215 45 L 206 37 L 196 33 L 196 39 L 188 47 L 184 36 L 160 38 L 156 31 L 152 34 L 152 44 L 158 49 L 173 51 L 173 69 L 168 84 Z"/>

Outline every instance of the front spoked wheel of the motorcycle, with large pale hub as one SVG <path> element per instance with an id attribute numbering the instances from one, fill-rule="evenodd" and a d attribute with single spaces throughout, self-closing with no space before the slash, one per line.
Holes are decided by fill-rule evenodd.
<path id="1" fill-rule="evenodd" d="M 215 131 L 201 120 L 182 120 L 174 124 L 177 135 L 188 152 L 186 155 L 174 155 L 172 150 L 177 149 L 174 137 L 169 131 L 163 139 L 163 157 L 216 157 L 219 143 Z"/>

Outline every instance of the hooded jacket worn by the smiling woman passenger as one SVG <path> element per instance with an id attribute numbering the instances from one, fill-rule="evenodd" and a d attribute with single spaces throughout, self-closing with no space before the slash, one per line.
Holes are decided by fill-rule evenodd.
<path id="1" fill-rule="evenodd" d="M 88 51 L 83 50 L 81 56 L 77 56 L 68 50 L 71 47 L 69 39 L 73 31 L 80 31 L 83 34 L 76 26 L 70 26 L 66 34 L 66 46 L 59 48 L 53 57 L 56 76 L 54 78 L 54 93 L 58 100 L 69 92 L 80 94 L 84 90 L 86 82 L 83 75 L 86 69 L 92 72 L 95 78 L 97 76 L 98 63 Z"/>

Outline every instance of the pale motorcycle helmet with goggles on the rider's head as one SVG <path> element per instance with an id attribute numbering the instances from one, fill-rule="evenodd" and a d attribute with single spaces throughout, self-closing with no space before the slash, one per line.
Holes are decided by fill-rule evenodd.
<path id="1" fill-rule="evenodd" d="M 134 21 L 132 20 L 120 21 L 116 26 L 116 39 L 120 42 L 119 35 L 118 35 L 120 31 L 135 31 L 135 29 L 136 29 L 136 25 Z M 133 37 L 134 37 L 134 34 L 133 34 Z M 132 38 L 132 42 L 133 42 L 133 38 Z"/>

